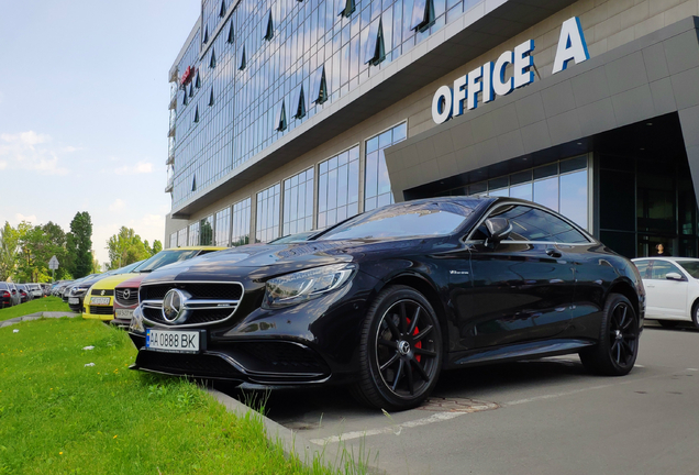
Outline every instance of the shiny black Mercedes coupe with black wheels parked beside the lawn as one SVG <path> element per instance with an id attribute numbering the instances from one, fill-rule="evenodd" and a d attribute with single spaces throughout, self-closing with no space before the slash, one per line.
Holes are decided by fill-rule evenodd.
<path id="1" fill-rule="evenodd" d="M 289 245 L 154 272 L 132 368 L 233 384 L 346 384 L 419 406 L 442 369 L 578 353 L 628 374 L 645 292 L 635 266 L 566 218 L 511 198 L 389 205 Z"/>

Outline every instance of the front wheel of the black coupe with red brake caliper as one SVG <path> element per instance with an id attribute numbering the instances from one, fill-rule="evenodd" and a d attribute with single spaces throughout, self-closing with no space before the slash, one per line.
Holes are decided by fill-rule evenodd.
<path id="1" fill-rule="evenodd" d="M 436 385 L 442 355 L 442 329 L 428 299 L 411 287 L 387 287 L 364 320 L 359 380 L 351 393 L 378 409 L 418 407 Z"/>

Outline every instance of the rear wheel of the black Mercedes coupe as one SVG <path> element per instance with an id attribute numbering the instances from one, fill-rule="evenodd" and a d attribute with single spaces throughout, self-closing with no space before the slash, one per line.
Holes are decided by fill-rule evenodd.
<path id="1" fill-rule="evenodd" d="M 582 365 L 607 376 L 629 374 L 639 355 L 639 319 L 629 299 L 610 294 L 602 310 L 598 343 L 580 352 Z"/>

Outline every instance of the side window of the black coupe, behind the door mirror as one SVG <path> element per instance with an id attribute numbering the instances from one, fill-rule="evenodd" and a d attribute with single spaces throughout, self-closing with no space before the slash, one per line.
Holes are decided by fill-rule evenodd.
<path id="1" fill-rule="evenodd" d="M 552 241 L 565 244 L 588 243 L 582 233 L 561 218 L 522 205 L 512 205 L 496 209 L 489 218 L 507 218 L 512 224 L 512 232 L 507 241 Z M 488 232 L 485 223 L 474 233 L 474 239 L 486 239 Z"/>

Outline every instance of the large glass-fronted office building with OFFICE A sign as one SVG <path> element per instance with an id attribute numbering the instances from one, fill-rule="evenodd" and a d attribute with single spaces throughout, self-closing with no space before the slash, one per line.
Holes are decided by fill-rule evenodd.
<path id="1" fill-rule="evenodd" d="M 491 195 L 548 206 L 629 256 L 656 242 L 697 255 L 685 85 L 699 5 L 685 3 L 203 0 L 169 74 L 164 242 L 268 242 L 395 201 Z M 586 60 L 554 73 L 573 18 Z M 522 45 L 525 69 L 502 63 Z M 531 82 L 488 97 L 493 67 Z M 436 121 L 443 85 L 478 87 L 478 107 L 468 95 Z"/>

